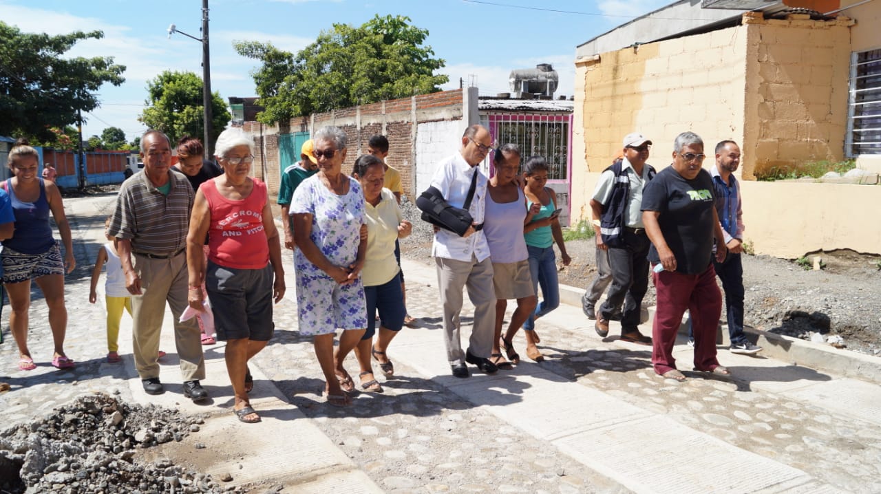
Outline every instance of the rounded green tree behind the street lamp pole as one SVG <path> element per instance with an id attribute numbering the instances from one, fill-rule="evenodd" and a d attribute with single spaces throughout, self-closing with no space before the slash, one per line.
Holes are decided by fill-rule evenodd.
<path id="1" fill-rule="evenodd" d="M 151 129 L 165 132 L 172 145 L 181 136 L 204 136 L 202 79 L 193 72 L 166 70 L 147 82 L 148 108 L 138 117 Z M 226 129 L 232 115 L 218 92 L 211 95 L 214 141 Z M 204 144 L 204 143 L 203 143 Z"/>

